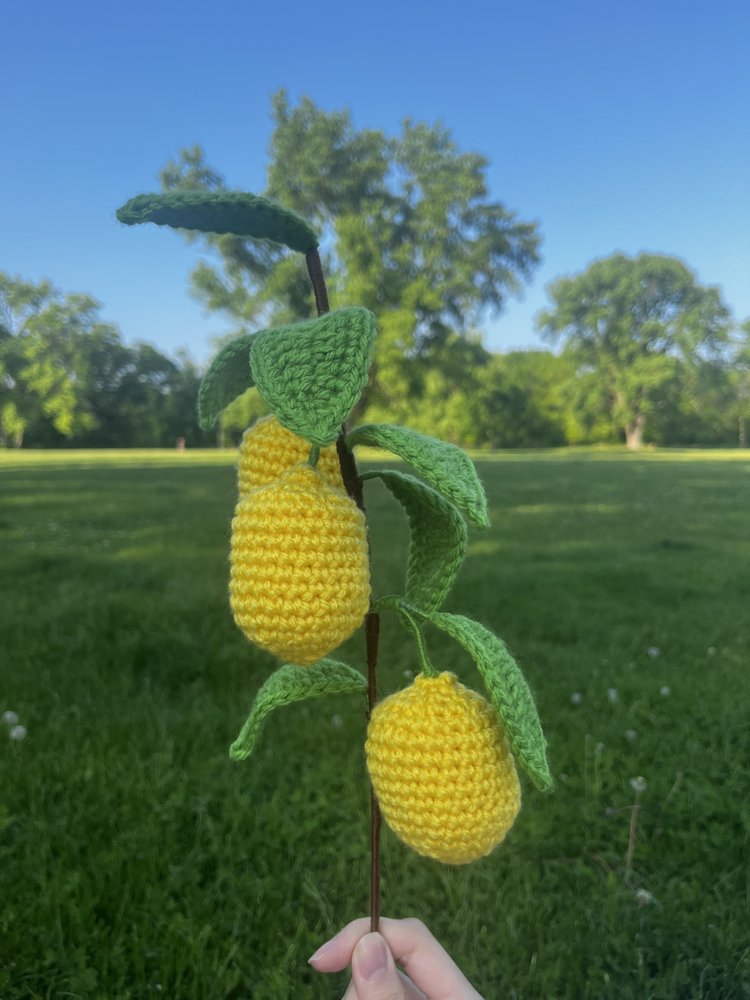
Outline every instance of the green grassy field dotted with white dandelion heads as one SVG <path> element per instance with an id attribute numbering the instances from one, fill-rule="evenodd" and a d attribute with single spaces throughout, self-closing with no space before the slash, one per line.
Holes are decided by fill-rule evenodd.
<path id="1" fill-rule="evenodd" d="M 749 997 L 750 461 L 479 468 L 493 526 L 447 607 L 523 665 L 557 787 L 527 785 L 466 868 L 386 833 L 384 912 L 422 917 L 488 1000 Z M 233 477 L 216 453 L 0 457 L 0 713 L 27 729 L 0 723 L 2 1000 L 344 991 L 306 959 L 367 909 L 363 706 L 284 709 L 254 763 L 229 761 L 274 667 L 228 610 Z M 368 491 L 376 589 L 396 591 L 405 528 Z M 411 642 L 384 620 L 383 693 Z"/>

